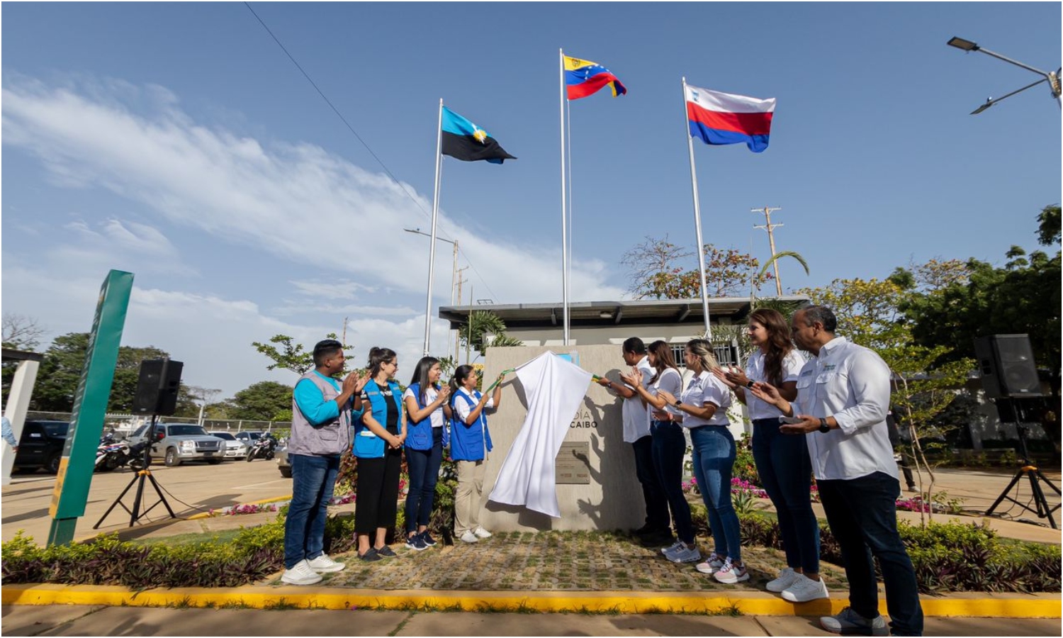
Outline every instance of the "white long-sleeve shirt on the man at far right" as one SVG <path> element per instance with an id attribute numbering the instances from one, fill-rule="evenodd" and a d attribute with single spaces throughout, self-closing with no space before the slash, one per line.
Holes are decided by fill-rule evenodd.
<path id="1" fill-rule="evenodd" d="M 849 480 L 874 472 L 897 475 L 885 425 L 890 368 L 878 354 L 836 337 L 802 368 L 795 414 L 833 417 L 840 430 L 806 434 L 817 480 Z"/>

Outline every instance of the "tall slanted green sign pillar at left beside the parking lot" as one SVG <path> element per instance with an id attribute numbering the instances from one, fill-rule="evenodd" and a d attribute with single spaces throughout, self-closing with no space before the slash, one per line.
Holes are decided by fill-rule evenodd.
<path id="1" fill-rule="evenodd" d="M 60 472 L 55 476 L 52 504 L 48 509 L 52 517 L 48 534 L 50 545 L 72 541 L 78 518 L 85 514 L 96 450 L 103 434 L 103 419 L 107 414 L 107 400 L 115 380 L 118 347 L 122 340 L 132 290 L 133 273 L 121 270 L 112 270 L 100 287 L 92 332 L 88 335 L 85 367 L 73 399 L 70 429 L 63 448 Z"/>

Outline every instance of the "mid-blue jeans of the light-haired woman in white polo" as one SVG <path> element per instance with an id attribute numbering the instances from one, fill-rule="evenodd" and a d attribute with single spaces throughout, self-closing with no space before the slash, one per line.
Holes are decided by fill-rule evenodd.
<path id="1" fill-rule="evenodd" d="M 735 437 L 724 425 L 691 427 L 694 448 L 694 476 L 709 513 L 713 550 L 735 563 L 742 560 L 742 533 L 730 500 L 731 470 L 735 467 Z"/>

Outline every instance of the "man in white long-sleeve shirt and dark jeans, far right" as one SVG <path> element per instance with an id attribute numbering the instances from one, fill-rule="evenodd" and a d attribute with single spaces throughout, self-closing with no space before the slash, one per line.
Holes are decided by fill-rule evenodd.
<path id="1" fill-rule="evenodd" d="M 849 606 L 820 623 L 836 634 L 921 636 L 915 571 L 897 533 L 900 482 L 885 424 L 890 369 L 874 351 L 834 336 L 837 326 L 825 306 L 795 313 L 794 343 L 814 357 L 797 377 L 796 402 L 767 384 L 755 384 L 753 392 L 800 419 L 779 432 L 807 437 L 820 500 L 841 545 Z M 873 555 L 882 569 L 890 628 L 878 612 Z"/>

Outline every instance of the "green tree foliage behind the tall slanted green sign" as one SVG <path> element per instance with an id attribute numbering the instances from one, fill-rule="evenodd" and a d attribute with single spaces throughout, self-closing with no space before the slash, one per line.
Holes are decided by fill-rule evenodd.
<path id="1" fill-rule="evenodd" d="M 41 412 L 70 412 L 78 390 L 81 372 L 88 351 L 88 333 L 69 333 L 55 337 L 45 351 L 37 382 L 33 389 L 31 409 Z M 169 358 L 169 354 L 154 347 L 118 349 L 115 377 L 111 385 L 107 410 L 128 413 L 133 409 L 133 399 L 140 379 L 140 362 Z"/>

